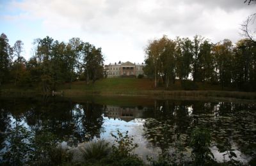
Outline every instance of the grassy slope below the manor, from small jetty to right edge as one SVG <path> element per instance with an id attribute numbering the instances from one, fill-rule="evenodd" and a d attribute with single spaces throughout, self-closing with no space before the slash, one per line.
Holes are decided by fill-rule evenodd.
<path id="1" fill-rule="evenodd" d="M 177 97 L 214 97 L 214 98 L 239 98 L 255 100 L 256 93 L 234 91 L 232 87 L 226 87 L 224 91 L 218 85 L 205 82 L 196 82 L 196 90 L 184 91 L 179 80 L 175 84 L 170 84 L 168 90 L 160 85 L 154 88 L 154 81 L 150 79 L 135 78 L 111 78 L 97 80 L 95 84 L 86 84 L 84 81 L 73 82 L 71 89 L 65 84 L 60 87 L 65 96 L 78 97 L 88 94 L 117 95 L 117 96 L 154 96 L 161 98 Z"/>

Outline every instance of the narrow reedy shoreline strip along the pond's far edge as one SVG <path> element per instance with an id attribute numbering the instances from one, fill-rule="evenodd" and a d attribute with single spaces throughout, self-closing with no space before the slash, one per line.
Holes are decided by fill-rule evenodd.
<path id="1" fill-rule="evenodd" d="M 248 101 L 256 103 L 256 93 L 241 92 L 241 91 L 164 91 L 164 90 L 141 90 L 141 91 L 92 91 L 92 90 L 78 90 L 78 89 L 64 89 L 63 93 L 54 93 L 54 96 L 63 96 L 65 98 L 83 98 L 85 96 L 120 96 L 120 97 L 135 97 L 135 98 L 150 98 L 157 100 L 179 99 L 179 100 L 221 100 L 221 101 Z M 58 92 L 58 91 L 56 91 Z M 1 91 L 1 97 L 17 97 L 17 96 L 52 96 L 50 93 L 42 93 L 40 91 L 15 91 L 15 89 L 4 89 Z"/>

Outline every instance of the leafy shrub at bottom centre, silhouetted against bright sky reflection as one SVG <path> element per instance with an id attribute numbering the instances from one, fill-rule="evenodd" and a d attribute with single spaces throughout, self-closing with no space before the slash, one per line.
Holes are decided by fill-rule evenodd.
<path id="1" fill-rule="evenodd" d="M 117 135 L 114 135 L 111 133 L 111 136 L 114 137 L 114 141 L 116 143 L 112 146 L 112 153 L 111 155 L 114 158 L 122 159 L 130 156 L 134 156 L 132 151 L 138 147 L 138 144 L 134 144 L 134 140 L 129 137 L 128 131 L 125 132 L 125 135 L 123 135 L 122 132 L 117 130 Z"/>

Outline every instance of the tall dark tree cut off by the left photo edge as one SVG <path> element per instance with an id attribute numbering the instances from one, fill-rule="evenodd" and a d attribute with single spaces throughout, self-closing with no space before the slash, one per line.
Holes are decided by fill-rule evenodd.
<path id="1" fill-rule="evenodd" d="M 7 36 L 2 33 L 0 36 L 0 86 L 8 78 L 12 59 L 12 48 L 8 41 Z"/>

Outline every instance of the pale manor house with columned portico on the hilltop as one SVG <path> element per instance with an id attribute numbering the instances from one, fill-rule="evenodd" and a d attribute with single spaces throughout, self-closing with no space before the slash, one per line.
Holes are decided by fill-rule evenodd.
<path id="1" fill-rule="evenodd" d="M 109 63 L 104 66 L 106 76 L 111 77 L 138 77 L 138 75 L 144 75 L 143 67 L 145 64 L 136 64 L 129 61 L 125 63 Z"/>

